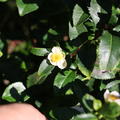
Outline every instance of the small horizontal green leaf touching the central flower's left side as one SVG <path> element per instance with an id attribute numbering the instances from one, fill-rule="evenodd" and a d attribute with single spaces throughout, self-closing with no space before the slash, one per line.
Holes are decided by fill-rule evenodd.
<path id="1" fill-rule="evenodd" d="M 33 47 L 31 49 L 31 53 L 37 56 L 44 56 L 47 53 L 49 53 L 49 51 L 46 48 L 35 48 Z"/>

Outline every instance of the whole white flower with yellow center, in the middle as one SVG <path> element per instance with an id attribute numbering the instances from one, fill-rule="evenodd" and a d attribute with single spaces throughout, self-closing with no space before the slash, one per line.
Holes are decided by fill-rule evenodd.
<path id="1" fill-rule="evenodd" d="M 48 55 L 48 60 L 52 65 L 58 66 L 60 69 L 64 69 L 67 66 L 65 53 L 57 46 L 52 48 L 52 52 Z"/>

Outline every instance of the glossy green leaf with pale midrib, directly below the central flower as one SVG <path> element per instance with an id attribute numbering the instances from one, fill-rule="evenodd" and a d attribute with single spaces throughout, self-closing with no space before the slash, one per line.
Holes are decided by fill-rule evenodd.
<path id="1" fill-rule="evenodd" d="M 58 73 L 54 80 L 54 86 L 62 88 L 75 80 L 76 73 L 72 70 L 65 71 L 64 74 Z"/>

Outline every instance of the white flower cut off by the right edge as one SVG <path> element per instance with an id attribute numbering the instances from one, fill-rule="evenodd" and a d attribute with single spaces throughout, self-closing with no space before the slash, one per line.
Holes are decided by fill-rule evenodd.
<path id="1" fill-rule="evenodd" d="M 104 93 L 104 99 L 106 102 L 116 102 L 120 105 L 120 94 L 117 91 L 109 92 L 109 90 L 106 90 Z"/>

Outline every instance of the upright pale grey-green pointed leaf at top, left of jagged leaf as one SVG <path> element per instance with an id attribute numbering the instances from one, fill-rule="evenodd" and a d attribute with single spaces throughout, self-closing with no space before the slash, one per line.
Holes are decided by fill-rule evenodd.
<path id="1" fill-rule="evenodd" d="M 76 4 L 73 10 L 73 25 L 77 25 L 81 16 L 83 15 L 84 11 L 82 10 L 82 8 Z"/>

